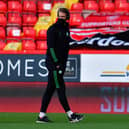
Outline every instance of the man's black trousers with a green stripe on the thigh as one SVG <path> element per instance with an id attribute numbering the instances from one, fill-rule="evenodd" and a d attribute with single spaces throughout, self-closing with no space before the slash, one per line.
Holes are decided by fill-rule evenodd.
<path id="1" fill-rule="evenodd" d="M 65 90 L 63 74 L 59 74 L 56 70 L 54 70 L 54 71 L 49 71 L 48 85 L 42 98 L 40 112 L 47 111 L 47 107 L 50 103 L 50 100 L 55 90 L 57 91 L 59 101 L 63 106 L 65 112 L 70 110 L 70 107 L 66 98 L 66 90 Z"/>

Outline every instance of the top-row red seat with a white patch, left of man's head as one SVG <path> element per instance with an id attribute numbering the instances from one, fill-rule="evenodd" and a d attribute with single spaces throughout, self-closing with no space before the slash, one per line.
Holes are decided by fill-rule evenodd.
<path id="1" fill-rule="evenodd" d="M 47 2 L 47 1 L 38 1 L 37 7 L 38 7 L 38 12 L 45 13 L 45 12 L 51 11 L 52 5 L 50 2 Z"/>

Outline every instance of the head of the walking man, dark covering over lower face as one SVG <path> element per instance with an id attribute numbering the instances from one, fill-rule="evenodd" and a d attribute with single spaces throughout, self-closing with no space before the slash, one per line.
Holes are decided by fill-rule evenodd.
<path id="1" fill-rule="evenodd" d="M 69 10 L 67 8 L 59 8 L 57 12 L 58 19 L 63 19 L 65 21 L 70 19 Z"/>

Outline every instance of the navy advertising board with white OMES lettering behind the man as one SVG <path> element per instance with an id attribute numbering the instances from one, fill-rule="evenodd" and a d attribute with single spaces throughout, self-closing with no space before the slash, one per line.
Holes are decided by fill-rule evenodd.
<path id="1" fill-rule="evenodd" d="M 0 81 L 46 82 L 48 70 L 43 54 L 0 54 Z M 80 81 L 80 55 L 70 55 L 64 79 Z"/>

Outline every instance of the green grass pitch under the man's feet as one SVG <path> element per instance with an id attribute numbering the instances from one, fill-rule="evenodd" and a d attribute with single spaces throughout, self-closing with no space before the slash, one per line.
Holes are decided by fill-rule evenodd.
<path id="1" fill-rule="evenodd" d="M 69 123 L 64 113 L 49 113 L 53 123 L 37 124 L 38 113 L 0 113 L 0 129 L 129 129 L 129 115 L 84 114 L 79 123 Z"/>

